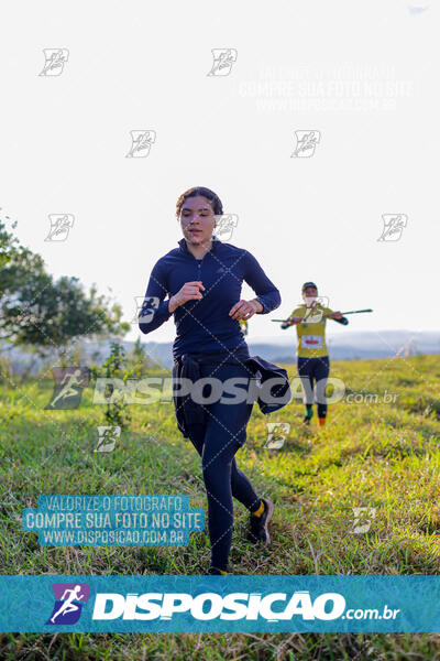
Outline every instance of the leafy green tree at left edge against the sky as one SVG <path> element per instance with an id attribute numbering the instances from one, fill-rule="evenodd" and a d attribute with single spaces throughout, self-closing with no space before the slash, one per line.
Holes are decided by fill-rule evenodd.
<path id="1" fill-rule="evenodd" d="M 0 220 L 0 339 L 33 345 L 40 355 L 66 353 L 80 337 L 125 334 L 122 310 L 92 286 L 88 293 L 77 278 L 55 280 L 44 261 L 6 229 Z"/>

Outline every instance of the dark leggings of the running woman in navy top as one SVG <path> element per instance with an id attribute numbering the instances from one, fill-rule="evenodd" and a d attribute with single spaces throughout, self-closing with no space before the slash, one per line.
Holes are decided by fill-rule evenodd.
<path id="1" fill-rule="evenodd" d="M 232 377 L 250 377 L 241 365 L 200 365 L 200 377 L 224 381 Z M 240 387 L 241 388 L 241 387 Z M 244 387 L 243 387 L 244 388 Z M 209 390 L 207 391 L 207 395 Z M 223 398 L 232 394 L 223 393 Z M 211 542 L 211 565 L 228 570 L 228 557 L 232 543 L 234 497 L 250 511 L 260 507 L 249 478 L 235 463 L 235 453 L 246 440 L 246 424 L 253 403 L 234 404 L 216 401 L 204 404 L 207 411 L 206 424 L 188 425 L 193 445 L 201 456 L 205 487 L 208 496 L 208 528 Z"/>

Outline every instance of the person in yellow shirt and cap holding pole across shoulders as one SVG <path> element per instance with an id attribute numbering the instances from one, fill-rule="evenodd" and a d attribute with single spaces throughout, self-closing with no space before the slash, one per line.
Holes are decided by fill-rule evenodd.
<path id="1" fill-rule="evenodd" d="M 326 344 L 326 321 L 328 318 L 336 319 L 343 325 L 346 325 L 349 321 L 340 312 L 333 312 L 317 301 L 318 288 L 315 282 L 305 282 L 301 293 L 304 305 L 294 310 L 289 318 L 282 324 L 282 328 L 296 325 L 298 376 L 301 379 L 306 407 L 304 423 L 310 424 L 314 415 L 316 382 L 318 423 L 322 426 L 327 419 L 326 386 L 330 371 L 329 351 Z"/>

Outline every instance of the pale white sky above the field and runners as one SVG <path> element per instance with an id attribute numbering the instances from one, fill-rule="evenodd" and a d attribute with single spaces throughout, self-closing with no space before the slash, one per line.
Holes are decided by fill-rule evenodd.
<path id="1" fill-rule="evenodd" d="M 178 196 L 204 185 L 282 294 L 250 337 L 280 336 L 271 318 L 309 280 L 333 310 L 374 310 L 351 330 L 437 330 L 439 18 L 422 0 L 7 0 L 0 214 L 131 321 L 182 238 Z M 150 151 L 128 156 L 131 131 Z M 65 240 L 45 240 L 59 215 Z M 139 336 L 173 340 L 173 318 Z"/>

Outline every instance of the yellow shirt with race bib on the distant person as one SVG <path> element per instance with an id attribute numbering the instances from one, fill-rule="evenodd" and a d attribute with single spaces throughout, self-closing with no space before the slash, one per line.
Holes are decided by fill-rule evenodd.
<path id="1" fill-rule="evenodd" d="M 296 325 L 298 337 L 298 358 L 322 358 L 329 351 L 326 345 L 326 316 L 332 314 L 330 307 L 323 307 L 318 303 L 314 311 L 306 305 L 296 307 L 290 316 L 307 317 L 306 321 Z"/>

